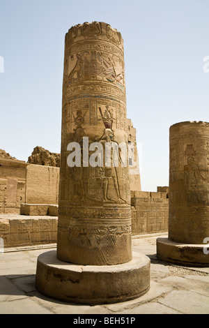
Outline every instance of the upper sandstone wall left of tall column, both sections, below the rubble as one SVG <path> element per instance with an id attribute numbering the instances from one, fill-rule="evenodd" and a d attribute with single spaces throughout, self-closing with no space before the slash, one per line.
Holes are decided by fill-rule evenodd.
<path id="1" fill-rule="evenodd" d="M 58 204 L 59 167 L 0 159 L 0 214 L 20 214 L 21 204 Z"/>

